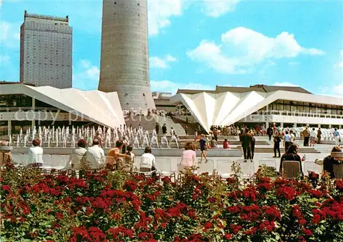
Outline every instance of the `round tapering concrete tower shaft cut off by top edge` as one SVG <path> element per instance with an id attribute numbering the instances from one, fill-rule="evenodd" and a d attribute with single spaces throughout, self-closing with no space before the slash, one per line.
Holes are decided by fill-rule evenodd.
<path id="1" fill-rule="evenodd" d="M 147 46 L 147 0 L 104 0 L 99 90 L 116 91 L 121 109 L 154 109 Z"/>

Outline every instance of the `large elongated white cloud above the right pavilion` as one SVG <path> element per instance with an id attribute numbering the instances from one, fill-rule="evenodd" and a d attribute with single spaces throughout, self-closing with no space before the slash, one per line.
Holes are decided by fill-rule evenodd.
<path id="1" fill-rule="evenodd" d="M 291 33 L 282 32 L 270 38 L 245 27 L 223 33 L 221 44 L 202 40 L 196 49 L 187 51 L 187 55 L 194 61 L 228 74 L 245 73 L 248 66 L 259 64 L 265 59 L 291 58 L 300 54 L 323 55 L 324 52 L 300 46 Z"/>

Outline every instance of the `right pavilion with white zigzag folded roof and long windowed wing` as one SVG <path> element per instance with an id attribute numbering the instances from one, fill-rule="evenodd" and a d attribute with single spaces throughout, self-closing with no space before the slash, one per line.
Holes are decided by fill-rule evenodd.
<path id="1" fill-rule="evenodd" d="M 182 105 L 207 132 L 212 125 L 231 124 L 343 127 L 343 98 L 311 94 L 300 87 L 253 85 L 178 90 L 170 102 Z"/>

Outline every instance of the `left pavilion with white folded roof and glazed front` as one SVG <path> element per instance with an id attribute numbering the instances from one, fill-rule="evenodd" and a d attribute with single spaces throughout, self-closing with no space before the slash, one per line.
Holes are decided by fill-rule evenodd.
<path id="1" fill-rule="evenodd" d="M 0 83 L 0 137 L 34 126 L 91 126 L 116 129 L 125 124 L 116 92 L 82 91 Z"/>

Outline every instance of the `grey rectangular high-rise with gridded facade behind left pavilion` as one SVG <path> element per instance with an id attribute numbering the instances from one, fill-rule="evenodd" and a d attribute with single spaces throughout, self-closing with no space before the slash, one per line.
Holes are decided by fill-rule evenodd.
<path id="1" fill-rule="evenodd" d="M 21 83 L 71 88 L 72 33 L 68 16 L 28 14 L 21 25 Z"/>

